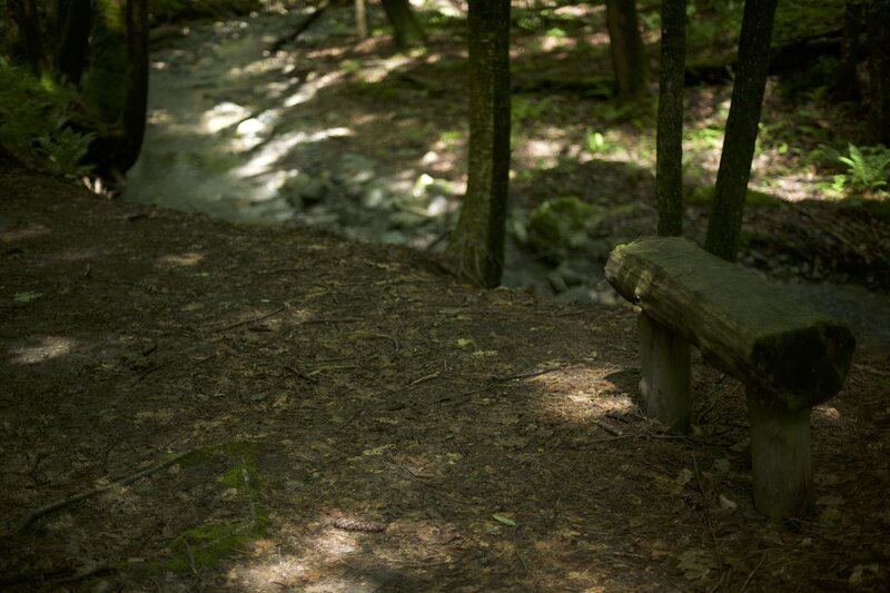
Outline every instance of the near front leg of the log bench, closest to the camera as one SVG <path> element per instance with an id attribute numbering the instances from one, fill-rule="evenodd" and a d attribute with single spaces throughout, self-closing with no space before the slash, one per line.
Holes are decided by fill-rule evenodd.
<path id="1" fill-rule="evenodd" d="M 748 387 L 754 508 L 771 520 L 813 514 L 810 408 L 770 405 Z"/>

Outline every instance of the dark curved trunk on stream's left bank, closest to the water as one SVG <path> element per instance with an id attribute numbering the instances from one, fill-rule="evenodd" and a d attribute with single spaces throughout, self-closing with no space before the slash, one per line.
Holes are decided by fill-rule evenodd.
<path id="1" fill-rule="evenodd" d="M 123 146 L 116 162 L 120 172 L 134 166 L 142 148 L 148 107 L 148 0 L 127 0 L 127 72 L 125 79 Z"/>

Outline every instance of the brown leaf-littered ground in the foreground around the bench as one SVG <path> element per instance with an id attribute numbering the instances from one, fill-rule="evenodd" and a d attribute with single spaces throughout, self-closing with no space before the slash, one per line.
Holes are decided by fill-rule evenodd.
<path id="1" fill-rule="evenodd" d="M 636 411 L 635 314 L 417 251 L 0 174 L 0 586 L 825 591 L 890 579 L 890 357 L 812 414 L 818 515 L 752 508 L 742 387 Z M 60 502 L 60 504 L 55 504 Z M 881 584 L 883 583 L 883 584 Z"/>

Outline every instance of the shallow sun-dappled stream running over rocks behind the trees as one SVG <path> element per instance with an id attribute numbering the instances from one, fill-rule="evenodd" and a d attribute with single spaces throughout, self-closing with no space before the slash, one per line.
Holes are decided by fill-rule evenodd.
<path id="1" fill-rule="evenodd" d="M 353 149 L 357 132 L 313 103 L 335 80 L 316 76 L 301 52 L 265 51 L 301 18 L 263 13 L 152 32 L 148 126 L 123 199 L 235 223 L 298 223 L 360 240 L 441 248 L 463 187 L 407 166 L 407 174 L 385 171 L 378 157 Z M 326 34 L 315 26 L 300 40 Z M 385 75 L 387 66 L 380 68 Z M 585 276 L 554 294 L 553 270 L 512 237 L 507 243 L 505 286 L 563 302 L 620 300 L 603 280 L 601 261 L 581 261 Z M 887 295 L 831 283 L 787 287 L 844 319 L 860 345 L 890 353 Z"/>

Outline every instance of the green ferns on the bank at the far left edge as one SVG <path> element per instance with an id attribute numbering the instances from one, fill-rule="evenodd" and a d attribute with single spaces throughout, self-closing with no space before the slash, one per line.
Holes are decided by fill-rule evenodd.
<path id="1" fill-rule="evenodd" d="M 29 167 L 66 177 L 89 172 L 80 160 L 95 135 L 69 126 L 76 101 L 72 91 L 0 57 L 0 144 Z"/>

